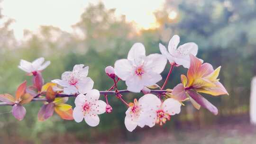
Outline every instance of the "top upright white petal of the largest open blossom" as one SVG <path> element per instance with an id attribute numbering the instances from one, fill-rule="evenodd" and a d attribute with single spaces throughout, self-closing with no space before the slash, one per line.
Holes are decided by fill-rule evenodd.
<path id="1" fill-rule="evenodd" d="M 129 50 L 127 59 L 134 62 L 134 63 L 140 63 L 141 57 L 146 56 L 145 47 L 141 43 L 135 43 L 132 45 L 131 49 Z"/>

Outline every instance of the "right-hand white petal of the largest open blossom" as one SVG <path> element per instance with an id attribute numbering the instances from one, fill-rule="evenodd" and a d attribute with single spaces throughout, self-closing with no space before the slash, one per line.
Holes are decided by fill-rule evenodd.
<path id="1" fill-rule="evenodd" d="M 162 54 L 149 54 L 144 62 L 145 71 L 160 74 L 165 70 L 166 63 L 167 60 Z"/>

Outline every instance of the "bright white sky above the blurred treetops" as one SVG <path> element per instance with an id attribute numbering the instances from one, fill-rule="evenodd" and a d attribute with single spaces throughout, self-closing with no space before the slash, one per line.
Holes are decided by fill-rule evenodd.
<path id="1" fill-rule="evenodd" d="M 135 22 L 139 29 L 156 27 L 153 13 L 165 4 L 165 0 L 3 0 L 1 7 L 6 18 L 15 19 L 11 28 L 20 40 L 24 29 L 37 31 L 41 25 L 72 32 L 71 26 L 80 20 L 89 3 L 100 1 L 107 9 L 115 8 L 117 16 L 125 15 L 128 21 Z"/>

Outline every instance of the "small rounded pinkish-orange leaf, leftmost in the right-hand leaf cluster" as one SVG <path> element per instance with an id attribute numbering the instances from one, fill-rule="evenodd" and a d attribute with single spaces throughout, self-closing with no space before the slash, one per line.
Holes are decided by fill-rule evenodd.
<path id="1" fill-rule="evenodd" d="M 187 99 L 186 91 L 182 83 L 174 87 L 172 96 L 172 98 L 177 99 L 179 101 L 184 101 Z"/>

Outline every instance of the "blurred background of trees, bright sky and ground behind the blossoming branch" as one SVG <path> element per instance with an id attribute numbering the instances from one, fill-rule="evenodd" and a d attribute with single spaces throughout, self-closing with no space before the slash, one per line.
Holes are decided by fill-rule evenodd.
<path id="1" fill-rule="evenodd" d="M 158 44 L 167 45 L 177 34 L 181 44 L 199 45 L 198 57 L 205 62 L 222 66 L 220 81 L 230 95 L 204 95 L 219 108 L 217 116 L 185 103 L 181 114 L 164 126 L 137 128 L 133 133 L 124 126 L 126 107 L 114 97 L 109 99 L 113 112 L 101 115 L 97 127 L 57 115 L 38 122 L 40 102 L 27 104 L 27 115 L 19 122 L 8 113 L 11 107 L 4 106 L 0 107 L 0 144 L 256 143 L 256 127 L 249 123 L 250 81 L 256 75 L 256 0 L 78 0 L 82 9 L 78 12 L 72 2 L 63 8 L 66 2 L 61 0 L 42 1 L 0 1 L 0 93 L 14 93 L 24 80 L 31 84 L 31 77 L 18 69 L 19 60 L 42 56 L 51 61 L 43 72 L 46 82 L 83 63 L 90 67 L 94 88 L 106 90 L 112 81 L 104 68 L 125 58 L 135 42 L 143 43 L 147 54 L 160 53 Z M 47 19 L 50 16 L 53 24 Z M 36 27 L 37 22 L 42 26 Z M 175 68 L 167 88 L 172 89 L 185 73 L 186 69 Z M 119 87 L 126 88 L 124 82 Z M 128 93 L 125 99 L 140 96 Z M 72 105 L 73 100 L 69 100 Z"/>

